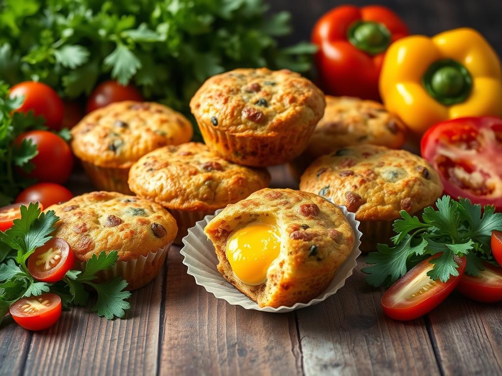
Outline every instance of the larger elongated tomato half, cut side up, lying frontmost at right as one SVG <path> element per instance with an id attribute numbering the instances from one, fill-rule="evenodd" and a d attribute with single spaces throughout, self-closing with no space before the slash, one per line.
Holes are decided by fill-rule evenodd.
<path id="1" fill-rule="evenodd" d="M 448 281 L 433 281 L 427 275 L 433 264 L 429 261 L 440 254 L 429 257 L 416 265 L 401 279 L 397 280 L 382 296 L 384 312 L 395 320 L 413 320 L 436 308 L 460 281 L 465 270 L 465 257 L 455 256 L 458 276 L 450 276 Z"/>

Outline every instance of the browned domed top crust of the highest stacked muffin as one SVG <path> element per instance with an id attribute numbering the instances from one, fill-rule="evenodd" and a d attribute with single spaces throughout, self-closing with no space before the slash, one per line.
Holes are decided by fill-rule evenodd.
<path id="1" fill-rule="evenodd" d="M 275 136 L 316 124 L 324 95 L 283 69 L 235 69 L 209 78 L 190 101 L 197 122 L 231 134 Z"/>

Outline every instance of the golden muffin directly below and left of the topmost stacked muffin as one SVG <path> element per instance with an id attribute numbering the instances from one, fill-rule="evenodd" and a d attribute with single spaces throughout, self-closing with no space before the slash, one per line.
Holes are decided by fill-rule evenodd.
<path id="1" fill-rule="evenodd" d="M 154 150 L 135 163 L 129 174 L 135 194 L 169 209 L 176 218 L 178 244 L 195 222 L 269 183 L 266 169 L 228 162 L 198 142 Z"/>

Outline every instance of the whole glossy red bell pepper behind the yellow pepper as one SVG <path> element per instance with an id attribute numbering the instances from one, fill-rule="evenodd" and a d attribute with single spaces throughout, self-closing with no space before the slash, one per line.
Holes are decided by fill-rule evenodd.
<path id="1" fill-rule="evenodd" d="M 389 45 L 409 34 L 405 23 L 380 6 L 341 6 L 326 13 L 312 31 L 316 63 L 326 94 L 379 100 L 378 81 Z"/>

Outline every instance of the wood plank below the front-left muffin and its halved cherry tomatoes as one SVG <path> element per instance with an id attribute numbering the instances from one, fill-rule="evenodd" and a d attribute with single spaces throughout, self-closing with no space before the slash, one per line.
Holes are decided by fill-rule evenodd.
<path id="1" fill-rule="evenodd" d="M 133 292 L 126 319 L 108 321 L 88 307 L 73 308 L 52 328 L 34 333 L 24 373 L 155 374 L 164 274 L 165 268 Z"/>

